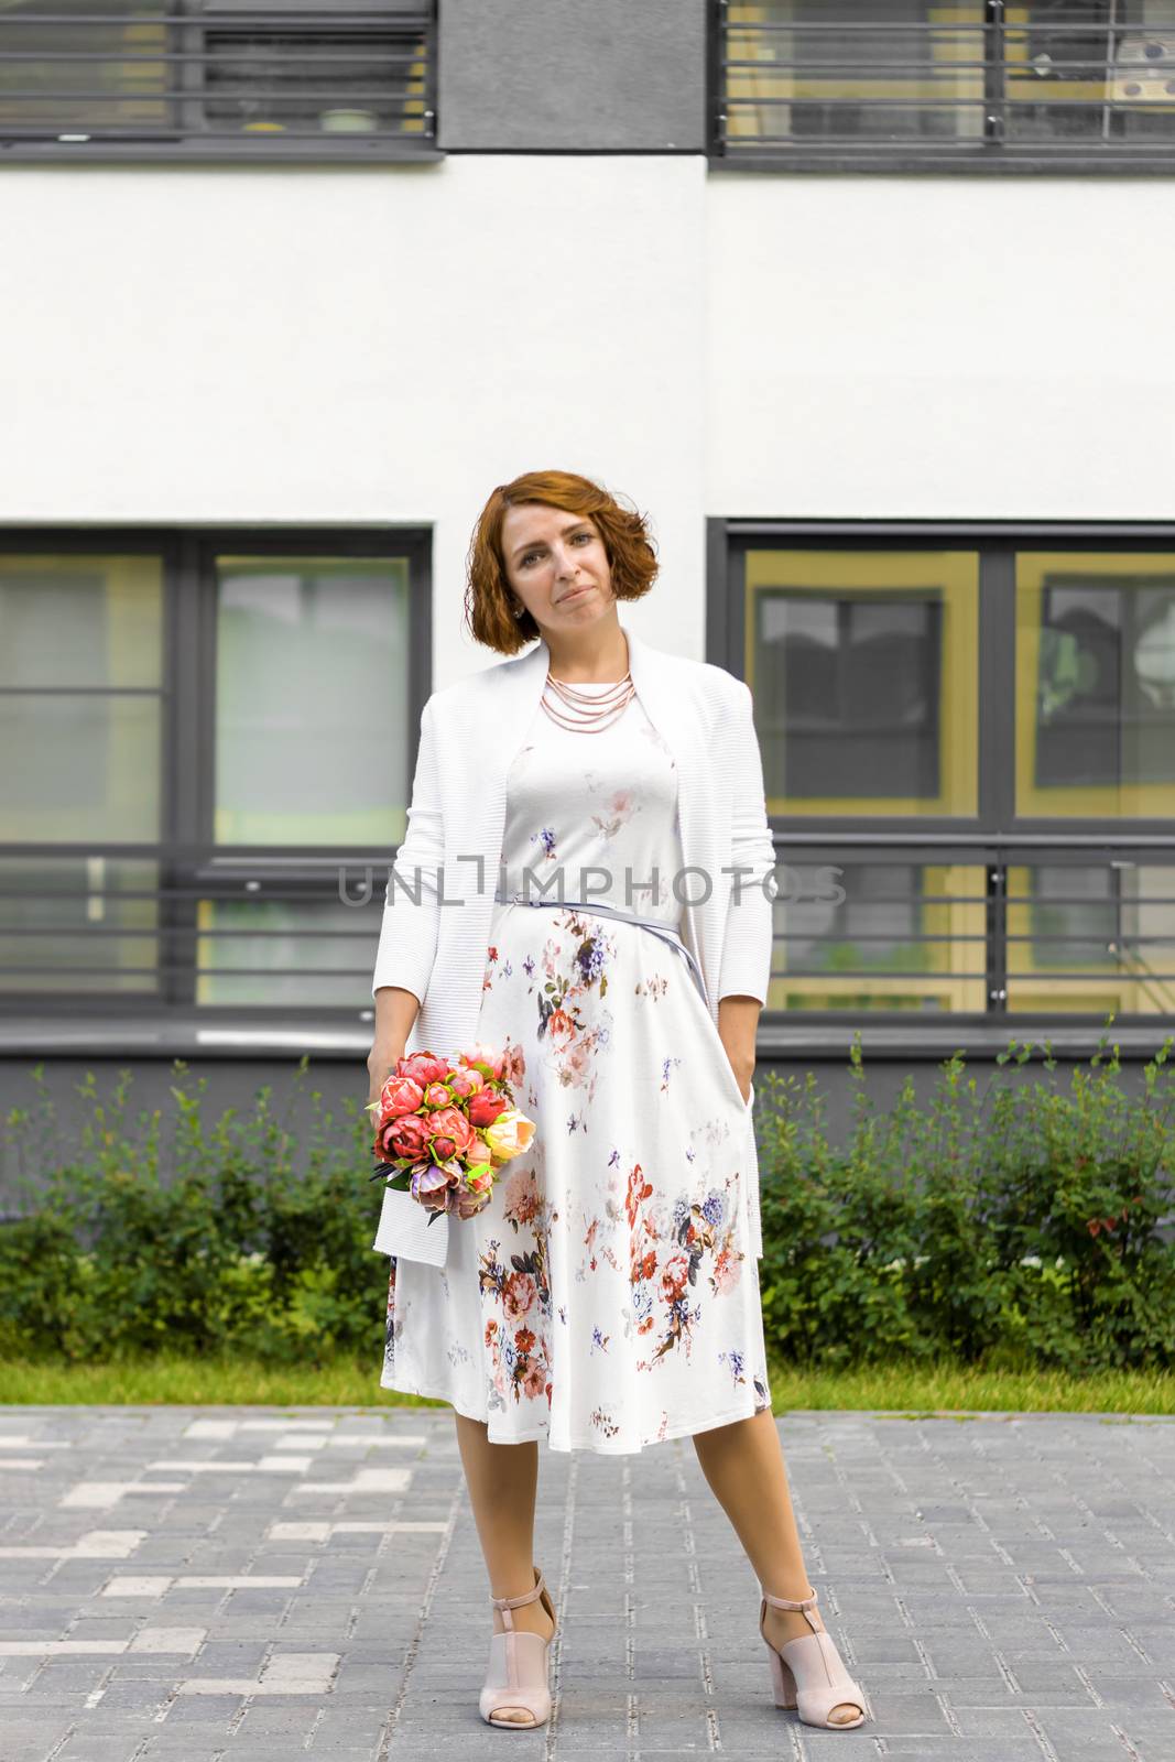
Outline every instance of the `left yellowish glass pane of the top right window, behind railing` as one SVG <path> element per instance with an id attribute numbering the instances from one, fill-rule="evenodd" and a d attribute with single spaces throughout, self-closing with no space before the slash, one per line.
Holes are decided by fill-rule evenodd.
<path id="1" fill-rule="evenodd" d="M 726 18 L 726 134 L 740 146 L 983 137 L 979 0 L 731 0 Z"/>

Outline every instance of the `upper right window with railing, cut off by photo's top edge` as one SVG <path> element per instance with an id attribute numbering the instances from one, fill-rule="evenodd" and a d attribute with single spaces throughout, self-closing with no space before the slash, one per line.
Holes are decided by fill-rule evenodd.
<path id="1" fill-rule="evenodd" d="M 740 169 L 1175 169 L 1175 0 L 729 0 Z"/>

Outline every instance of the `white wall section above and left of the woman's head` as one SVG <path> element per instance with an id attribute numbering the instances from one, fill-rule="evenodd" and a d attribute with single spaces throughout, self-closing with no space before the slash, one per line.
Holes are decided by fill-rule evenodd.
<path id="1" fill-rule="evenodd" d="M 497 483 L 652 515 L 638 631 L 701 655 L 705 162 L 9 169 L 0 523 L 432 522 L 435 684 Z"/>

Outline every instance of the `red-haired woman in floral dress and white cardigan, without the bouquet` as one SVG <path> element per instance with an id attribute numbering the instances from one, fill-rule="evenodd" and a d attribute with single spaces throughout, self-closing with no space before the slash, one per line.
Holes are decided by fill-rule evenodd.
<path id="1" fill-rule="evenodd" d="M 550 1716 L 537 1440 L 631 1454 L 689 1433 L 763 1588 L 775 1704 L 861 1725 L 770 1406 L 750 1077 L 775 883 L 750 692 L 620 626 L 655 574 L 643 518 L 569 472 L 497 488 L 477 523 L 474 638 L 539 645 L 425 707 L 370 1099 L 410 1038 L 479 1041 L 537 1131 L 483 1212 L 440 1219 L 442 1265 L 386 1195 L 381 1385 L 454 1408 L 495 1610 L 484 1720 Z"/>

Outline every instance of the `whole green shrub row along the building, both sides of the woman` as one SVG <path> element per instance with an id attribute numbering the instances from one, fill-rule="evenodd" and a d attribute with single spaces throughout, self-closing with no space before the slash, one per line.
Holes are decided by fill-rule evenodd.
<path id="1" fill-rule="evenodd" d="M 1064 1371 L 1175 1366 L 1171 1041 L 1136 1096 L 1106 1041 L 1068 1089 L 1011 1041 L 979 1092 L 962 1055 L 927 1107 L 913 1077 L 879 1110 L 853 1047 L 851 1129 L 835 1145 L 812 1073 L 756 1084 L 768 1350 L 782 1362 L 935 1360 Z M 372 1237 L 382 1188 L 370 1128 L 262 1087 L 252 1114 L 203 1117 L 206 1078 L 173 1066 L 174 1110 L 129 1115 L 88 1075 L 88 1117 L 62 1149 L 39 1066 L 37 1105 L 5 1133 L 28 1195 L 0 1228 L 0 1355 L 107 1362 L 180 1341 L 317 1364 L 379 1353 L 386 1283 Z M 291 1115 L 308 1126 L 296 1135 Z M 162 1173 L 166 1172 L 166 1173 Z"/>

